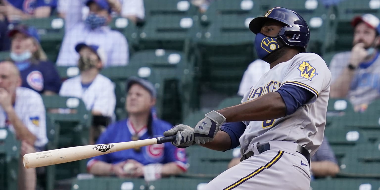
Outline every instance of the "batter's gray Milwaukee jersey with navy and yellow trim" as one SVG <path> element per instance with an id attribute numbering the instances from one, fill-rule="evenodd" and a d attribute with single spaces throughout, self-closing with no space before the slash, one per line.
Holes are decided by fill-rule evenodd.
<path id="1" fill-rule="evenodd" d="M 293 114 L 266 121 L 246 121 L 247 126 L 239 141 L 245 151 L 255 142 L 290 141 L 309 150 L 313 155 L 323 140 L 331 73 L 325 61 L 314 53 L 300 53 L 282 62 L 261 76 L 244 94 L 242 103 L 284 85 L 295 85 L 309 90 L 314 97 Z"/>

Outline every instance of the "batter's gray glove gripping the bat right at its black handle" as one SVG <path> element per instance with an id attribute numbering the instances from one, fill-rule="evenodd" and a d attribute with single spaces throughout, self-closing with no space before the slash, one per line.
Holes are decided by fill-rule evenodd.
<path id="1" fill-rule="evenodd" d="M 176 125 L 171 130 L 165 131 L 164 136 L 176 135 L 172 144 L 178 148 L 186 148 L 194 143 L 194 129 L 188 125 Z"/>

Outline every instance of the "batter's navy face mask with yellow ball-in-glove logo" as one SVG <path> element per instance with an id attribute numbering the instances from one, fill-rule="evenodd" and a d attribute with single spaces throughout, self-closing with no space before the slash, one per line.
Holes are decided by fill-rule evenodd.
<path id="1" fill-rule="evenodd" d="M 260 59 L 280 48 L 279 44 L 277 44 L 277 38 L 265 36 L 260 32 L 256 34 L 255 47 Z"/>

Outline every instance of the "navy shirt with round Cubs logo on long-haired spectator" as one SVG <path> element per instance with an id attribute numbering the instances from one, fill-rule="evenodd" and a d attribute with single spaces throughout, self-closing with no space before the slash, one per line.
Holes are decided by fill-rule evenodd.
<path id="1" fill-rule="evenodd" d="M 31 64 L 29 61 L 16 63 L 20 70 L 22 87 L 43 93 L 50 90 L 55 93 L 59 92 L 61 79 L 51 62 L 41 61 L 38 64 Z"/>

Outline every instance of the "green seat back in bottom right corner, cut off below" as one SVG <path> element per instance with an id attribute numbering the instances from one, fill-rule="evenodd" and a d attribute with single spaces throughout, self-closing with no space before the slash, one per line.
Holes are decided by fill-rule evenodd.
<path id="1" fill-rule="evenodd" d="M 316 179 L 310 182 L 309 190 L 375 190 L 378 179 Z"/>

